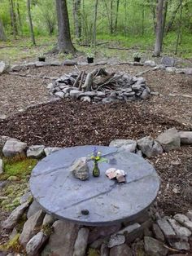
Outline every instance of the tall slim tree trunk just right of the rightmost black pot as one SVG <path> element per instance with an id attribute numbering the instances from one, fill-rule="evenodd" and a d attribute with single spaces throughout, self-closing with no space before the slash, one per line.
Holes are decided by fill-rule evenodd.
<path id="1" fill-rule="evenodd" d="M 164 0 L 159 0 L 156 9 L 156 40 L 155 40 L 155 51 L 154 56 L 159 56 L 161 52 L 162 44 L 162 33 L 163 33 L 163 10 L 164 10 Z"/>

